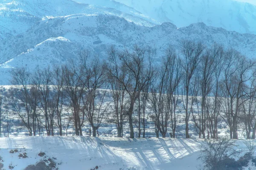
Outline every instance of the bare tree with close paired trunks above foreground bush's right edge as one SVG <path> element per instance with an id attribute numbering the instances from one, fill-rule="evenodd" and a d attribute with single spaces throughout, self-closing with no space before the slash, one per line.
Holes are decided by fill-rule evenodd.
<path id="1" fill-rule="evenodd" d="M 222 91 L 225 95 L 223 103 L 224 120 L 230 127 L 231 139 L 238 139 L 237 125 L 239 122 L 239 113 L 241 112 L 242 104 L 247 101 L 242 100 L 247 95 L 244 92 L 244 85 L 252 76 L 248 75 L 248 71 L 250 71 L 253 65 L 254 62 L 241 56 L 239 52 L 234 50 L 227 51 Z"/>

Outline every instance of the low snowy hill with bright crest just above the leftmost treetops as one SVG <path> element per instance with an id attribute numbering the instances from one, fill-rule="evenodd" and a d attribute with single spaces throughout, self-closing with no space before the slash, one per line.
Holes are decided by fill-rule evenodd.
<path id="1" fill-rule="evenodd" d="M 37 67 L 46 68 L 50 63 L 57 65 L 63 62 L 64 64 L 69 60 L 77 59 L 77 56 L 70 51 L 72 48 L 75 48 L 75 45 L 66 38 L 49 38 L 35 45 L 26 53 L 5 62 L 1 68 L 17 68 L 23 65 L 29 70 L 35 70 Z M 52 54 L 52 56 L 48 54 Z"/>

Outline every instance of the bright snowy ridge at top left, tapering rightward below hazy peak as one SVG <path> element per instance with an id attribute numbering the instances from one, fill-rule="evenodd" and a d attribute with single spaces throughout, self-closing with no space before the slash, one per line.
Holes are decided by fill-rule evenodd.
<path id="1" fill-rule="evenodd" d="M 77 3 L 72 0 L 13 0 L 9 3 L 0 1 L 0 26 L 12 31 L 12 34 L 18 35 L 42 19 L 80 13 L 111 14 L 124 17 L 140 25 L 154 26 L 139 17 L 113 8 Z"/>

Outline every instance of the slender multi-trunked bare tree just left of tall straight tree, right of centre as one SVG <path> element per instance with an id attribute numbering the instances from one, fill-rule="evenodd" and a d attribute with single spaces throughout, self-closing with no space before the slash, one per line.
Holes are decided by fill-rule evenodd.
<path id="1" fill-rule="evenodd" d="M 152 84 L 150 103 L 153 108 L 152 116 L 156 133 L 159 130 L 163 138 L 166 136 L 167 127 L 171 120 L 172 136 L 175 136 L 177 122 L 178 88 L 182 78 L 181 61 L 176 56 L 175 50 L 169 47 L 166 56 L 160 65 L 158 79 Z M 157 135 L 158 136 L 158 135 Z"/>

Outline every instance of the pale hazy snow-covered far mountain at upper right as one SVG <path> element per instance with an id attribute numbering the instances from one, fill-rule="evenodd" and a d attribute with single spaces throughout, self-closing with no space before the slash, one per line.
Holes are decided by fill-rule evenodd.
<path id="1" fill-rule="evenodd" d="M 177 27 L 203 22 L 229 31 L 256 34 L 256 6 L 236 0 L 115 0 Z"/>

